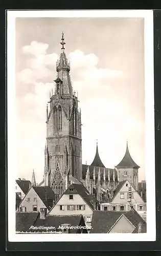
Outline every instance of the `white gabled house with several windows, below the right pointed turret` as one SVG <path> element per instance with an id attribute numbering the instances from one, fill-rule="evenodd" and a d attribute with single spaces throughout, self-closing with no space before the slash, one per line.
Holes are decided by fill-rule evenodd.
<path id="1" fill-rule="evenodd" d="M 129 183 L 128 180 L 121 181 L 113 196 L 106 202 L 101 203 L 101 210 L 128 211 L 130 210 L 129 188 L 131 188 L 131 207 L 146 221 L 146 202 Z"/>

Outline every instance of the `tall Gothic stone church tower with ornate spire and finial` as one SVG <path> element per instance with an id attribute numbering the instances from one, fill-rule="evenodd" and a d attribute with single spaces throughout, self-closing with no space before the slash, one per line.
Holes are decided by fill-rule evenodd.
<path id="1" fill-rule="evenodd" d="M 44 150 L 44 185 L 52 187 L 56 200 L 67 188 L 71 176 L 82 179 L 81 113 L 78 97 L 73 93 L 63 33 L 61 40 L 54 95 L 50 95 L 48 102 L 50 109 L 47 105 L 47 145 Z"/>

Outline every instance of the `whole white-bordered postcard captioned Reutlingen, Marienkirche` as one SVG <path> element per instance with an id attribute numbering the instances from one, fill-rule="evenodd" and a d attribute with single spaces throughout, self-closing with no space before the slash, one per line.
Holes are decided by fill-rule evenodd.
<path id="1" fill-rule="evenodd" d="M 152 11 L 7 19 L 9 241 L 155 241 Z"/>

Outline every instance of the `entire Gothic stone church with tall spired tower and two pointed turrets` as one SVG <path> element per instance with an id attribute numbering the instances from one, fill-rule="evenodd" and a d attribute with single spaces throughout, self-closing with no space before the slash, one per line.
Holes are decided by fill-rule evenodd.
<path id="1" fill-rule="evenodd" d="M 49 109 L 47 105 L 44 175 L 39 186 L 52 187 L 56 201 L 71 183 L 83 184 L 100 202 L 110 199 L 122 180 L 129 180 L 138 190 L 140 166 L 132 160 L 128 144 L 124 158 L 113 169 L 102 163 L 98 143 L 94 161 L 90 165 L 82 164 L 81 111 L 78 109 L 78 97 L 73 92 L 63 34 L 61 40 L 55 91 L 50 95 Z"/>

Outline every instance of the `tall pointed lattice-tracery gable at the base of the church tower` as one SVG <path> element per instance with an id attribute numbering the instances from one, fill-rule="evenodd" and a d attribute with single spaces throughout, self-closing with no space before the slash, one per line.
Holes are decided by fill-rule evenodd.
<path id="1" fill-rule="evenodd" d="M 55 167 L 55 173 L 52 181 L 52 188 L 54 190 L 56 201 L 57 201 L 63 193 L 63 177 L 62 177 L 58 162 Z"/>

